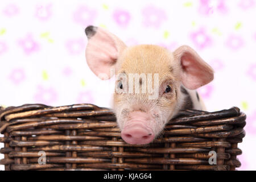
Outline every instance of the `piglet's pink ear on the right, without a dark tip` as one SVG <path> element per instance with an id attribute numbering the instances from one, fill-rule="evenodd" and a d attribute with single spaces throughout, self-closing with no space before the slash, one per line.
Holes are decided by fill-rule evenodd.
<path id="1" fill-rule="evenodd" d="M 174 51 L 175 59 L 181 64 L 181 82 L 191 90 L 213 80 L 213 69 L 189 46 L 181 46 Z"/>

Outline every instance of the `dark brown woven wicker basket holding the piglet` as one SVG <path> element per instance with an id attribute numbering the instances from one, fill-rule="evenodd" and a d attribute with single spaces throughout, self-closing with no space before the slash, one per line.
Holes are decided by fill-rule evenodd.
<path id="1" fill-rule="evenodd" d="M 162 137 L 144 146 L 123 142 L 113 112 L 91 104 L 27 104 L 0 109 L 5 170 L 234 170 L 246 115 L 232 107 L 184 110 Z M 44 151 L 46 164 L 39 164 Z M 210 165 L 209 152 L 217 152 Z M 43 161 L 43 160 L 42 160 Z"/>

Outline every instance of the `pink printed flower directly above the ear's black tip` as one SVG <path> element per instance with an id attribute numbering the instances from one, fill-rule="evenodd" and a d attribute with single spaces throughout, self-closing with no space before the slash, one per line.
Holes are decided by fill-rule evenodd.
<path id="1" fill-rule="evenodd" d="M 94 23 L 96 19 L 96 10 L 89 9 L 86 6 L 80 6 L 74 13 L 73 18 L 75 22 L 86 27 Z"/>

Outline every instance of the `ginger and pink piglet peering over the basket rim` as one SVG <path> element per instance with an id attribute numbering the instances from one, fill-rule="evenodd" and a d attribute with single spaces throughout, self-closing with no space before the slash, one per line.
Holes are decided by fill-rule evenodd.
<path id="1" fill-rule="evenodd" d="M 102 79 L 115 75 L 113 110 L 125 142 L 148 144 L 180 110 L 205 110 L 195 89 L 213 80 L 213 69 L 191 47 L 127 47 L 104 28 L 85 33 L 89 68 Z"/>

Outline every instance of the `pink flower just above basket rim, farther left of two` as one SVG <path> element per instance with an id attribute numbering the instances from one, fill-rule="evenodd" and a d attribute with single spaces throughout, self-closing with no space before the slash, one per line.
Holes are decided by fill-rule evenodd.
<path id="1" fill-rule="evenodd" d="M 38 86 L 38 91 L 36 92 L 35 102 L 51 105 L 57 100 L 57 93 L 52 87 L 44 88 L 43 86 Z"/>

